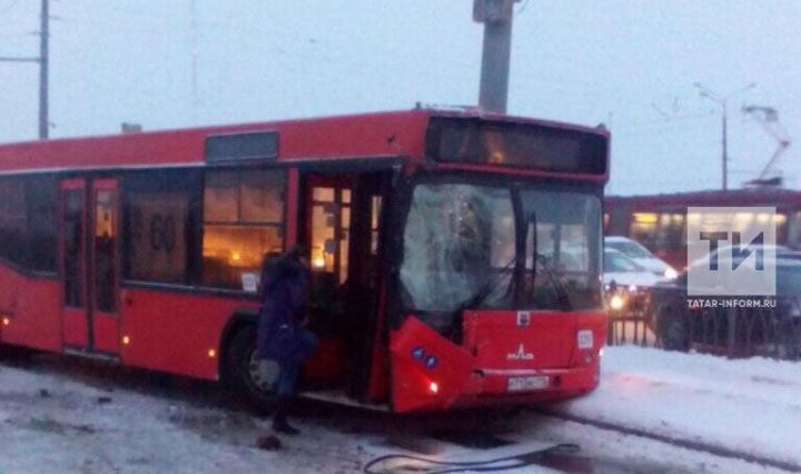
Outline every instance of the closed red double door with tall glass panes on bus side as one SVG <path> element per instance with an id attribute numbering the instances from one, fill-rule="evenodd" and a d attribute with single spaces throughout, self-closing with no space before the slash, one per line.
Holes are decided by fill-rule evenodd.
<path id="1" fill-rule="evenodd" d="M 117 179 L 61 181 L 60 265 L 66 352 L 119 354 Z"/>

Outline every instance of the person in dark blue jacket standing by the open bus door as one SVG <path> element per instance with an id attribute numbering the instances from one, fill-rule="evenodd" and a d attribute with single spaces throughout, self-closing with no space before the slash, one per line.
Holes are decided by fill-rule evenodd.
<path id="1" fill-rule="evenodd" d="M 275 361 L 279 367 L 273 429 L 284 434 L 299 433 L 287 422 L 287 411 L 300 368 L 317 348 L 317 337 L 304 327 L 308 286 L 303 247 L 295 246 L 279 256 L 265 256 L 257 350 L 261 359 Z"/>

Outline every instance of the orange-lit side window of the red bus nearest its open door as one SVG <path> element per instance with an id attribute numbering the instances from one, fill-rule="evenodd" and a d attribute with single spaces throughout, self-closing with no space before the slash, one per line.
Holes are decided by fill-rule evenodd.
<path id="1" fill-rule="evenodd" d="M 264 255 L 284 249 L 286 171 L 207 171 L 202 284 L 256 292 Z"/>

